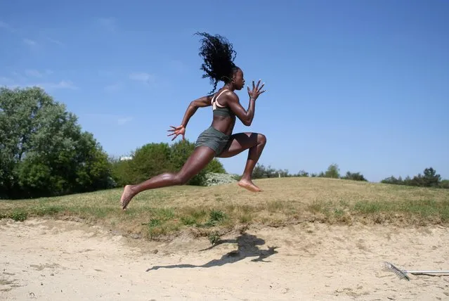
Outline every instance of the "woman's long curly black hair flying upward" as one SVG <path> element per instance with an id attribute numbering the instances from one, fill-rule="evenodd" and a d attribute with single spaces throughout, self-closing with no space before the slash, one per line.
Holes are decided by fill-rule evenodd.
<path id="1" fill-rule="evenodd" d="M 234 63 L 237 53 L 233 49 L 233 44 L 219 34 L 214 36 L 206 32 L 195 34 L 203 37 L 200 53 L 198 53 L 204 60 L 200 69 L 206 72 L 202 78 L 210 77 L 211 84 L 214 84 L 212 94 L 219 81 L 228 83 L 232 80 L 233 73 L 238 69 Z"/>

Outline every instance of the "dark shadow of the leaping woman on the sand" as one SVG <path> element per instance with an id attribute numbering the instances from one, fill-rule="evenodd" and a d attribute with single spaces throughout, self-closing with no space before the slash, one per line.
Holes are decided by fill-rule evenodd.
<path id="1" fill-rule="evenodd" d="M 254 235 L 250 235 L 250 234 L 246 234 L 246 233 L 242 234 L 241 236 L 238 236 L 236 239 L 220 240 L 215 245 L 212 245 L 209 248 L 200 250 L 200 252 L 211 250 L 212 248 L 215 248 L 217 245 L 221 245 L 223 243 L 237 243 L 238 248 L 237 248 L 237 250 L 233 250 L 231 252 L 226 253 L 219 260 L 211 260 L 210 262 L 207 262 L 202 265 L 173 264 L 173 265 L 167 265 L 167 266 L 154 266 L 150 269 L 147 269 L 147 271 L 152 271 L 152 270 L 156 270 L 156 269 L 219 267 L 224 264 L 233 264 L 234 262 L 244 260 L 247 257 L 256 257 L 256 256 L 257 256 L 257 258 L 254 258 L 254 260 L 251 260 L 252 262 L 269 262 L 269 261 L 266 261 L 265 259 L 278 252 L 275 250 L 278 247 L 268 247 L 267 250 L 260 250 L 257 246 L 264 245 L 265 241 L 263 241 L 263 239 L 258 238 Z"/>

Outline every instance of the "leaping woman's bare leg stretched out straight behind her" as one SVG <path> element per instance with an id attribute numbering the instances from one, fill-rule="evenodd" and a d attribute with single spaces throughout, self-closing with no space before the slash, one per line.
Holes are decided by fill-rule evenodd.
<path id="1" fill-rule="evenodd" d="M 136 185 L 126 185 L 122 193 L 120 203 L 122 209 L 126 210 L 126 206 L 129 204 L 132 198 L 138 193 L 148 189 L 162 188 L 167 186 L 184 185 L 190 179 L 195 177 L 201 169 L 207 166 L 209 162 L 215 157 L 215 152 L 212 148 L 207 146 L 200 146 L 195 148 L 192 155 L 184 163 L 181 170 L 177 173 L 165 172 L 159 174 L 151 179 L 143 181 Z"/>

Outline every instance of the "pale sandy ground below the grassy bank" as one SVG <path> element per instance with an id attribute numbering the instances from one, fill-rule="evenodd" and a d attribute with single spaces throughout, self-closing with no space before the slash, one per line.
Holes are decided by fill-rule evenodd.
<path id="1" fill-rule="evenodd" d="M 449 300 L 449 275 L 405 281 L 382 268 L 448 270 L 443 227 L 306 223 L 248 229 L 209 247 L 4 219 L 0 300 Z"/>

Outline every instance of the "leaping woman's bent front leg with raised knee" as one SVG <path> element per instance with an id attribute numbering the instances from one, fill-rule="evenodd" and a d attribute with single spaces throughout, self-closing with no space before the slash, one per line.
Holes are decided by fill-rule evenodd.
<path id="1" fill-rule="evenodd" d="M 242 174 L 242 179 L 238 182 L 238 185 L 248 189 L 249 191 L 258 192 L 261 188 L 254 185 L 252 182 L 252 171 L 259 160 L 263 148 L 266 145 L 266 136 L 258 133 L 238 133 L 230 136 L 230 141 L 226 148 L 217 157 L 219 158 L 229 158 L 242 151 L 248 151 L 247 163 L 245 165 L 245 170 Z"/>

